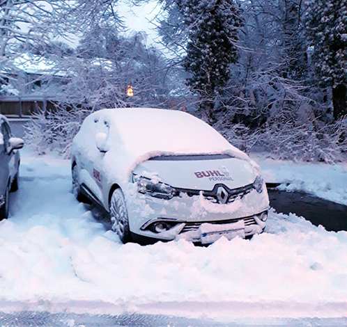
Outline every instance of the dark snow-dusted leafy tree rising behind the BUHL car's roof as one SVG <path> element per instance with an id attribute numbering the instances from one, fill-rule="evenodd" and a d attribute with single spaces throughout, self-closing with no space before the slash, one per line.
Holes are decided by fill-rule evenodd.
<path id="1" fill-rule="evenodd" d="M 177 0 L 183 22 L 190 27 L 187 85 L 199 95 L 199 109 L 208 122 L 215 122 L 215 98 L 229 80 L 230 65 L 237 61 L 236 42 L 242 26 L 240 8 L 233 0 Z"/>

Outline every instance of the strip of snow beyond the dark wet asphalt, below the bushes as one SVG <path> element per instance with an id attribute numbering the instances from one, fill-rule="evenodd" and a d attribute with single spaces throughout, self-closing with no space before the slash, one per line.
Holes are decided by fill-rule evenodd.
<path id="1" fill-rule="evenodd" d="M 261 166 L 265 182 L 282 183 L 281 190 L 304 191 L 347 205 L 347 163 L 276 161 L 255 155 L 252 159 Z"/>

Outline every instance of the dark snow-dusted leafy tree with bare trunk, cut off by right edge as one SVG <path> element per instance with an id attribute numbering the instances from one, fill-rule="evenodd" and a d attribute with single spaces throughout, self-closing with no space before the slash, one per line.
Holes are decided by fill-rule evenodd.
<path id="1" fill-rule="evenodd" d="M 347 0 L 308 0 L 305 30 L 322 85 L 332 88 L 337 120 L 347 114 Z"/>

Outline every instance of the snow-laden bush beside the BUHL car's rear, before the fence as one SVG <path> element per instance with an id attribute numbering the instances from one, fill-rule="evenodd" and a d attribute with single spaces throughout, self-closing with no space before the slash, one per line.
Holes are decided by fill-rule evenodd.
<path id="1" fill-rule="evenodd" d="M 58 151 L 65 159 L 70 158 L 72 138 L 79 131 L 88 109 L 57 105 L 56 111 L 39 111 L 24 126 L 26 145 L 38 154 Z"/>

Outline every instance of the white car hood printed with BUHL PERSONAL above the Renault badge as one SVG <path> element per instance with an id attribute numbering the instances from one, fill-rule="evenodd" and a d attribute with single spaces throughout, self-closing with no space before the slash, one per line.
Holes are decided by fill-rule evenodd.
<path id="1" fill-rule="evenodd" d="M 209 157 L 209 159 L 203 159 L 203 157 Z M 140 163 L 134 170 L 134 174 L 157 178 L 161 182 L 180 189 L 208 191 L 212 190 L 215 184 L 224 184 L 229 189 L 252 184 L 258 172 L 251 162 L 239 158 L 169 156 L 152 158 Z"/>

